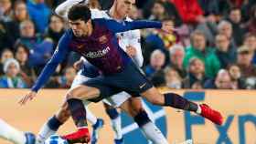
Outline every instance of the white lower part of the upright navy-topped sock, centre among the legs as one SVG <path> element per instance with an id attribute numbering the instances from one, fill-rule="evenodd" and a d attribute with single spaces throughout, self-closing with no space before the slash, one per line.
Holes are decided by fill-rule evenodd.
<path id="1" fill-rule="evenodd" d="M 114 131 L 114 139 L 122 139 L 122 126 L 121 126 L 121 117 L 111 119 L 112 120 L 112 129 Z"/>

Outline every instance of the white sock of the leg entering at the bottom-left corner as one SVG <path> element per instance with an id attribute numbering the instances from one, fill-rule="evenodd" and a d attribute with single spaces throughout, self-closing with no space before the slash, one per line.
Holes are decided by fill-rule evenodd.
<path id="1" fill-rule="evenodd" d="M 23 132 L 8 125 L 4 120 L 0 119 L 0 138 L 12 141 L 15 144 L 25 144 L 26 136 Z"/>

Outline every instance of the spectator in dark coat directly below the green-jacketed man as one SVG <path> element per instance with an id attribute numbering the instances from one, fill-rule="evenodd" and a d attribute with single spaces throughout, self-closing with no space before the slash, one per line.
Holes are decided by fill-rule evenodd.
<path id="1" fill-rule="evenodd" d="M 189 65 L 187 67 L 187 77 L 183 80 L 184 88 L 196 87 L 196 83 L 200 83 L 203 86 L 208 80 L 205 75 L 205 65 L 202 60 L 197 57 L 192 57 L 189 60 Z"/>

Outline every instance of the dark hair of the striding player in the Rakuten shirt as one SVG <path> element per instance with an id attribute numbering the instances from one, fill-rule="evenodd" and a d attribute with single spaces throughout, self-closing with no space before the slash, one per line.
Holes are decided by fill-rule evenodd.
<path id="1" fill-rule="evenodd" d="M 73 5 L 69 9 L 68 18 L 72 21 L 80 19 L 86 23 L 88 20 L 91 19 L 91 10 L 88 8 L 87 5 Z"/>

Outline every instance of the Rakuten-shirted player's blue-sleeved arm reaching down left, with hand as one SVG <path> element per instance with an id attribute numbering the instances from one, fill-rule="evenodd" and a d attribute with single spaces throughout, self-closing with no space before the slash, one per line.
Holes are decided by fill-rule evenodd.
<path id="1" fill-rule="evenodd" d="M 40 76 L 37 78 L 35 85 L 31 88 L 26 96 L 18 101 L 20 105 L 25 105 L 28 100 L 32 100 L 37 96 L 37 91 L 44 86 L 44 84 L 48 81 L 48 78 L 55 72 L 59 63 L 61 63 L 62 60 L 67 56 L 69 53 L 69 39 L 70 36 L 68 33 L 65 33 L 64 36 L 60 38 L 58 47 L 56 48 L 51 59 L 48 61 L 46 67 L 44 67 Z"/>

